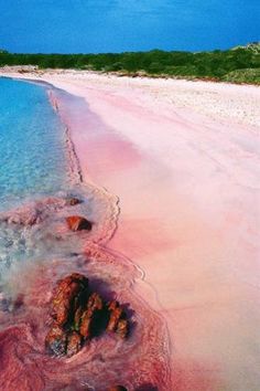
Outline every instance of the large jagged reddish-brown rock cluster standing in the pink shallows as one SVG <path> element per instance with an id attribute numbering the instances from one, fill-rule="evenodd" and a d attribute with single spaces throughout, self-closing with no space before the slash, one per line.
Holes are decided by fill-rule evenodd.
<path id="1" fill-rule="evenodd" d="M 88 278 L 73 273 L 61 279 L 52 299 L 52 325 L 45 338 L 50 352 L 56 356 L 76 355 L 86 340 L 107 329 L 126 338 L 129 321 L 116 300 L 106 303 L 88 286 Z"/>

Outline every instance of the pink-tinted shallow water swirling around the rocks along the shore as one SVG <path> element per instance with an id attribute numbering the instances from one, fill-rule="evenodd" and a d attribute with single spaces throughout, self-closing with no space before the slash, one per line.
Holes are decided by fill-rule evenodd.
<path id="1" fill-rule="evenodd" d="M 48 97 L 64 124 L 66 109 L 71 105 L 78 105 L 75 102 L 76 97 L 68 97 L 66 102 L 67 96 L 68 94 L 55 87 L 48 91 Z M 71 130 L 68 127 L 66 129 Z M 66 131 L 66 136 L 69 136 L 69 133 Z M 71 158 L 74 155 L 74 145 L 71 140 L 66 142 L 68 148 L 73 146 L 73 150 L 68 154 Z M 10 225 L 10 230 L 23 230 L 25 225 L 29 235 L 32 235 L 30 242 L 34 243 L 35 249 L 41 249 L 40 253 L 43 251 L 40 255 L 40 263 L 37 260 L 35 264 L 32 264 L 31 260 L 24 265 L 18 265 L 18 270 L 13 268 L 3 279 L 3 285 L 9 288 L 1 294 L 1 300 L 15 303 L 21 294 L 23 313 L 20 318 L 19 311 L 14 310 L 12 319 L 11 316 L 6 316 L 6 310 L 0 311 L 2 326 L 0 349 L 6 351 L 0 383 L 4 390 L 15 390 L 19 373 L 21 376 L 24 373 L 19 385 L 24 390 L 31 388 L 32 383 L 35 390 L 45 389 L 45 385 L 62 390 L 71 384 L 74 384 L 75 390 L 82 390 L 83 387 L 104 390 L 117 382 L 123 382 L 131 391 L 139 390 L 140 387 L 145 390 L 154 389 L 154 384 L 160 384 L 160 390 L 169 390 L 171 370 L 165 321 L 138 294 L 132 292 L 136 279 L 142 276 L 141 270 L 121 254 L 107 247 L 107 243 L 117 229 L 118 198 L 106 189 L 95 186 L 94 182 L 79 183 L 77 165 L 69 165 L 69 167 L 72 170 L 76 167 L 76 172 L 74 172 L 76 176 L 67 193 L 65 191 L 46 199 L 32 200 L 0 215 L 1 224 L 7 224 L 7 228 L 14 223 L 13 226 Z M 72 213 L 69 212 L 72 207 L 69 208 L 66 203 L 66 197 L 69 194 L 71 197 L 76 194 L 83 201 L 79 205 L 73 207 L 72 211 L 83 213 L 94 221 L 91 232 L 75 235 L 69 234 L 64 226 L 64 218 Z M 39 239 L 42 244 L 39 243 Z M 57 278 L 72 272 L 85 273 L 91 281 L 90 286 L 102 293 L 107 300 L 117 298 L 122 303 L 131 323 L 131 338 L 126 344 L 117 338 L 105 336 L 100 340 L 88 344 L 73 359 L 65 357 L 57 360 L 46 355 L 44 336 L 48 323 L 46 319 L 50 297 Z M 39 316 L 41 320 L 36 321 Z M 144 319 L 149 321 L 149 326 Z M 37 324 L 35 332 L 34 321 Z M 19 351 L 22 351 L 24 344 L 25 346 L 28 344 L 28 353 L 33 353 L 34 357 L 32 364 L 36 366 L 33 373 L 26 362 L 20 361 L 20 357 L 15 356 L 14 341 Z M 97 351 L 100 355 L 97 355 Z M 123 373 L 121 373 L 122 363 L 126 366 Z M 93 373 L 95 373 L 94 377 Z"/>

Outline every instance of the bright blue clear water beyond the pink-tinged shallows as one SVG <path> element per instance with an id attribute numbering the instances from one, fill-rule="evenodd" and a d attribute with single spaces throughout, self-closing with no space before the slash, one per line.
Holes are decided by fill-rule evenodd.
<path id="1" fill-rule="evenodd" d="M 66 182 L 65 133 L 46 88 L 0 77 L 0 210 Z"/>

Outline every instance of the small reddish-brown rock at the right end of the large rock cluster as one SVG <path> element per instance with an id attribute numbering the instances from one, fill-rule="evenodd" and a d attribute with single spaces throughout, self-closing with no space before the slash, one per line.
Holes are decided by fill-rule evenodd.
<path id="1" fill-rule="evenodd" d="M 116 331 L 121 338 L 126 338 L 128 335 L 128 320 L 126 320 L 126 314 L 122 307 L 117 300 L 112 300 L 108 305 L 110 318 L 107 325 L 108 331 Z"/>

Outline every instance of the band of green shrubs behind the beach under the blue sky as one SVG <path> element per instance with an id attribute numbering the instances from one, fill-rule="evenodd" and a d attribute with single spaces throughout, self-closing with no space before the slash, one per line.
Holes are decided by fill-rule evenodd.
<path id="1" fill-rule="evenodd" d="M 0 50 L 0 66 L 35 65 L 121 75 L 185 77 L 260 84 L 260 43 L 213 52 L 151 52 L 105 54 L 19 54 Z"/>

